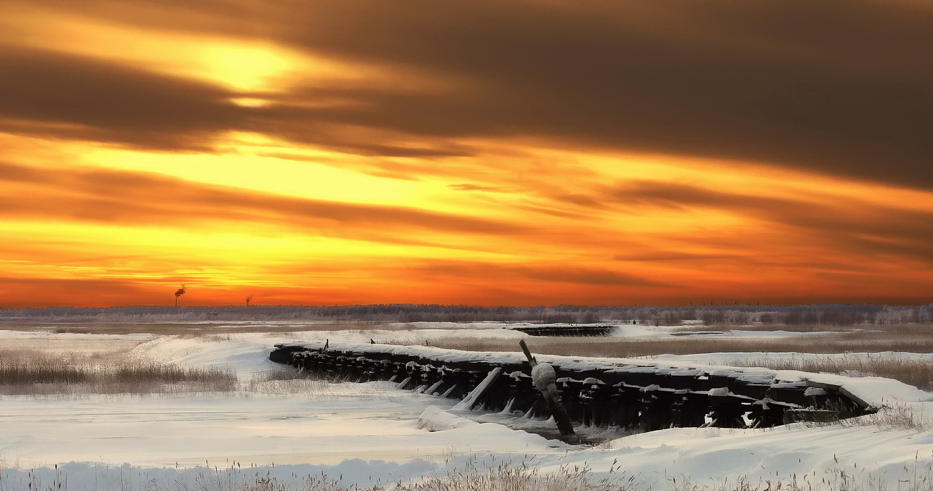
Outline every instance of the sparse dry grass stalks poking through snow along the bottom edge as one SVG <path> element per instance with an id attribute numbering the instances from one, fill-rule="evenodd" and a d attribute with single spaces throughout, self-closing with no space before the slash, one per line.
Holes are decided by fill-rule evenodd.
<path id="1" fill-rule="evenodd" d="M 494 457 L 493 457 L 494 459 Z M 437 476 L 427 476 L 413 483 L 397 483 L 371 487 L 351 484 L 325 474 L 292 475 L 289 482 L 272 477 L 270 472 L 240 469 L 204 468 L 193 480 L 176 479 L 170 484 L 146 480 L 134 485 L 137 472 L 129 466 L 108 469 L 104 487 L 119 491 L 933 491 L 933 462 L 919 454 L 912 465 L 904 467 L 903 479 L 890 483 L 890 476 L 874 475 L 870 468 L 842 465 L 833 458 L 826 470 L 807 474 L 749 479 L 744 475 L 708 479 L 703 484 L 683 474 L 665 474 L 663 482 L 649 483 L 650 476 L 626 476 L 616 464 L 606 473 L 592 471 L 586 465 L 563 466 L 559 470 L 541 472 L 533 463 L 534 457 L 519 463 L 488 464 L 476 462 L 464 469 L 447 468 Z M 116 474 L 116 475 L 111 475 Z M 145 477 L 145 476 L 144 476 Z M 887 477 L 888 479 L 885 479 Z M 296 481 L 301 484 L 294 484 Z M 29 472 L 24 478 L 10 479 L 0 473 L 0 489 L 31 489 L 35 491 L 62 491 L 72 489 L 67 474 L 59 470 L 46 481 Z M 82 487 L 81 489 L 84 489 Z"/>

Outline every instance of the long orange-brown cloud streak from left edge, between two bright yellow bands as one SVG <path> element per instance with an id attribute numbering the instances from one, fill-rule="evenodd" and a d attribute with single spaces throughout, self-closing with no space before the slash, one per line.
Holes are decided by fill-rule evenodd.
<path id="1" fill-rule="evenodd" d="M 7 181 L 0 191 L 0 208 L 7 217 L 124 225 L 228 220 L 290 225 L 338 235 L 369 231 L 405 235 L 411 228 L 496 235 L 528 230 L 522 225 L 480 217 L 291 198 L 122 171 L 47 171 L 0 162 L 0 179 Z M 36 195 L 47 198 L 31 199 Z"/>

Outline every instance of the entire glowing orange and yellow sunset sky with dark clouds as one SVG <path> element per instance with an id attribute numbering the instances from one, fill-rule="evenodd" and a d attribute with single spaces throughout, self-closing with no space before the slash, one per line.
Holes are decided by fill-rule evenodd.
<path id="1" fill-rule="evenodd" d="M 926 0 L 4 0 L 0 307 L 926 303 Z"/>

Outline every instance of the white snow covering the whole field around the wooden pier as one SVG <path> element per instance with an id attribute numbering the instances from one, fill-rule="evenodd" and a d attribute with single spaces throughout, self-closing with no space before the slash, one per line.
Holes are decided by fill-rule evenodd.
<path id="1" fill-rule="evenodd" d="M 275 327 L 274 333 L 184 336 L 55 333 L 51 326 L 49 330 L 0 330 L 4 350 L 62 353 L 71 349 L 185 366 L 224 366 L 235 370 L 241 380 L 239 390 L 227 393 L 0 396 L 0 490 L 26 489 L 28 484 L 45 489 L 65 479 L 71 490 L 235 489 L 267 473 L 280 483 L 299 487 L 308 475 L 321 472 L 344 485 L 391 484 L 475 463 L 494 466 L 503 461 L 530 462 L 541 471 L 588 466 L 597 474 L 615 462 L 645 489 L 717 487 L 740 480 L 753 485 L 759 480 L 789 483 L 795 475 L 799 483 L 826 489 L 931 485 L 933 431 L 929 427 L 881 428 L 865 416 L 863 424 L 672 428 L 598 446 L 568 445 L 495 423 L 477 423 L 474 420 L 488 418 L 452 411 L 453 400 L 399 391 L 386 382 L 327 384 L 261 377 L 264 372 L 290 370 L 268 360 L 277 343 L 326 339 L 331 343 L 416 342 L 442 336 L 496 336 L 517 342 L 525 336 L 521 332 L 499 329 L 502 326 L 494 323 L 421 323 L 380 330 L 294 333 Z M 669 332 L 632 326 L 618 335 Z M 784 334 L 747 331 L 743 335 Z M 805 357 L 730 353 L 652 360 L 722 365 L 766 356 Z M 907 408 L 918 417 L 933 410 L 933 394 L 896 381 L 817 377 L 842 381 L 862 397 Z"/>

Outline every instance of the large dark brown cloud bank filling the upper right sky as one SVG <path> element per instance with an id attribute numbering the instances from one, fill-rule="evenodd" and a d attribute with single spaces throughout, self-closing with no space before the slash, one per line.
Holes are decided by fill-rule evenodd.
<path id="1" fill-rule="evenodd" d="M 933 187 L 929 7 L 766 0 L 375 9 L 299 8 L 294 19 L 314 27 L 288 29 L 286 39 L 463 84 L 438 94 L 351 88 L 342 95 L 359 104 L 322 117 L 428 135 L 536 134 Z"/>

